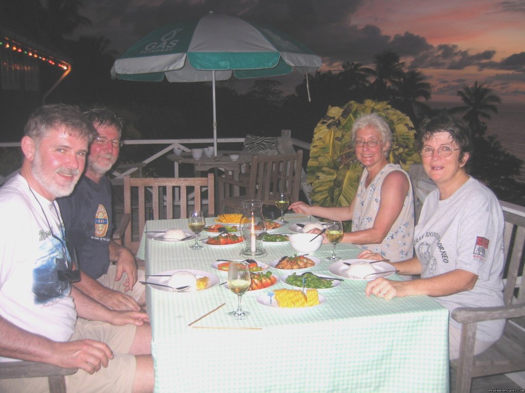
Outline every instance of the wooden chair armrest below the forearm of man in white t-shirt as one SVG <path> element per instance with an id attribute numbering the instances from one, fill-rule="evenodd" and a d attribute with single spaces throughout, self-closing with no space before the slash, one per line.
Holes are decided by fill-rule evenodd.
<path id="1" fill-rule="evenodd" d="M 0 379 L 47 377 L 49 393 L 66 393 L 64 376 L 75 374 L 78 368 L 62 368 L 38 362 L 0 363 Z"/>

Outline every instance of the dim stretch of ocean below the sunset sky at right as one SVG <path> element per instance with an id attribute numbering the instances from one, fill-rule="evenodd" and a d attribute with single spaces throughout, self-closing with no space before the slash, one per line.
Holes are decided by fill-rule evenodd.
<path id="1" fill-rule="evenodd" d="M 435 102 L 432 108 L 451 108 L 461 106 L 459 103 Z M 498 113 L 490 113 L 487 121 L 487 135 L 496 135 L 497 140 L 510 154 L 523 160 L 520 175 L 516 180 L 525 182 L 525 104 L 499 104 Z"/>

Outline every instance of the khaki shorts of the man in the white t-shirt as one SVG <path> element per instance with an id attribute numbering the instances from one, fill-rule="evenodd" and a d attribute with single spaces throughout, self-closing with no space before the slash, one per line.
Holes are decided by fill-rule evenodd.
<path id="1" fill-rule="evenodd" d="M 68 393 L 131 393 L 137 372 L 135 356 L 128 354 L 137 326 L 113 326 L 99 321 L 79 319 L 75 333 L 70 341 L 92 339 L 102 341 L 111 348 L 114 357 L 109 360 L 108 367 L 101 367 L 95 374 L 88 374 L 78 369 L 75 374 L 66 375 L 66 390 Z M 2 393 L 47 393 L 49 387 L 47 377 L 0 379 Z"/>

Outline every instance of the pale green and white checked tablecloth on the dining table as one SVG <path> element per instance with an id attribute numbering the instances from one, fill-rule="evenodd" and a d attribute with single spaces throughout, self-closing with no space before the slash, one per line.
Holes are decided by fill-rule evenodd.
<path id="1" fill-rule="evenodd" d="M 291 234 L 297 231 L 294 224 L 318 221 L 299 214 L 286 214 L 285 219 L 288 224 L 270 233 Z M 215 221 L 208 217 L 206 225 Z M 204 244 L 192 250 L 189 246 L 194 240 L 160 239 L 159 233 L 171 228 L 187 230 L 187 220 L 146 222 L 138 251 L 138 257 L 145 260 L 146 275 L 190 269 L 218 279 L 211 288 L 190 292 L 146 285 L 155 392 L 449 390 L 448 310 L 433 298 L 366 297 L 367 281 L 342 276 L 338 286 L 318 291 L 324 298 L 319 305 L 275 307 L 275 299 L 273 305 L 268 299 L 276 289 L 300 288 L 280 280 L 290 271 L 270 267 L 279 281 L 270 288 L 247 291 L 241 304 L 250 315 L 234 320 L 228 312 L 236 310 L 237 296 L 224 285 L 227 272 L 212 265 L 217 259 L 245 259 L 240 256 L 244 244 Z M 204 239 L 215 236 L 200 235 Z M 267 256 L 256 258 L 260 264 L 275 265 L 282 256 L 296 254 L 289 242 L 262 245 Z M 325 259 L 332 249 L 332 244 L 322 244 L 310 254 L 320 263 L 298 272 L 338 278 L 331 271 L 334 263 Z M 336 252 L 349 260 L 360 249 L 339 243 Z M 390 278 L 403 279 L 398 275 Z"/>

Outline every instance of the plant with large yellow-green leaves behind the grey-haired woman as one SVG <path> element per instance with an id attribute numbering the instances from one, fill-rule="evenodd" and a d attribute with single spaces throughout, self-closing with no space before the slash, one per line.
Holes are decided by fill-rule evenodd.
<path id="1" fill-rule="evenodd" d="M 307 181 L 311 184 L 312 204 L 348 206 L 358 189 L 363 171 L 355 156 L 351 129 L 355 119 L 369 113 L 382 116 L 393 131 L 390 162 L 403 169 L 421 162 L 414 146 L 415 129 L 410 119 L 387 102 L 350 101 L 343 107 L 329 107 L 313 131 Z"/>

